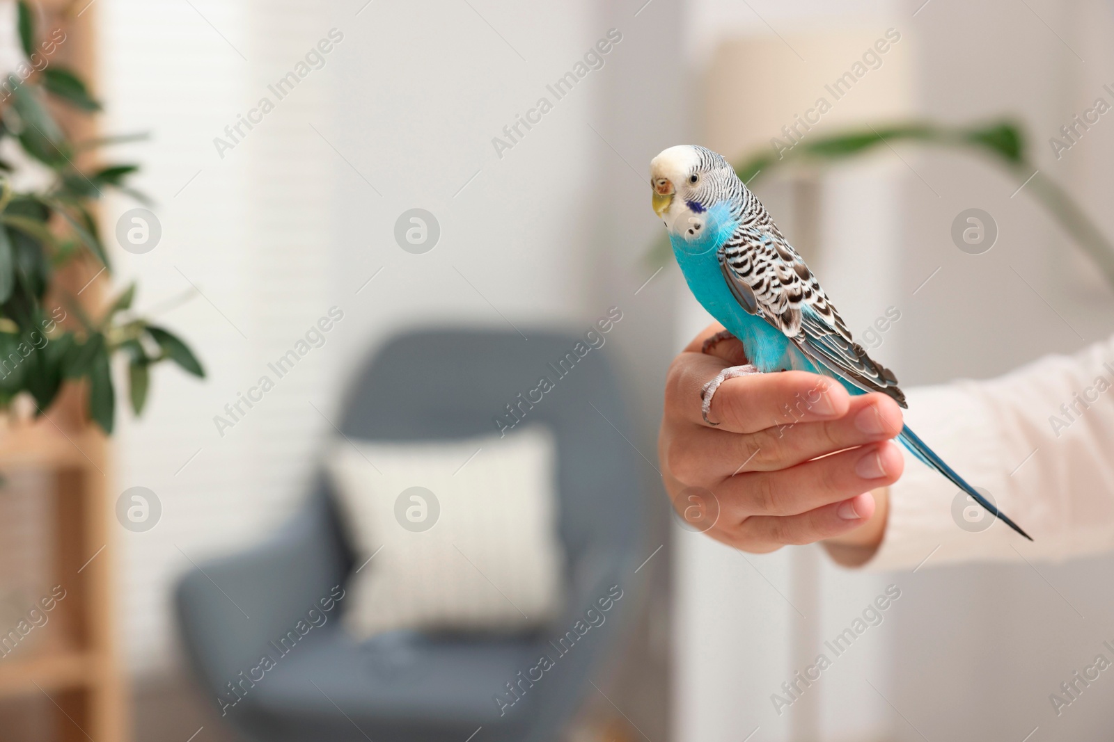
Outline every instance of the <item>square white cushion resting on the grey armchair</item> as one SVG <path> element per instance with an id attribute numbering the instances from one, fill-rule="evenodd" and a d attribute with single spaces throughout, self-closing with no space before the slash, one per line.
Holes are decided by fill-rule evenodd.
<path id="1" fill-rule="evenodd" d="M 551 619 L 564 563 L 556 455 L 539 426 L 504 438 L 334 442 L 326 468 L 363 565 L 348 631 L 521 631 Z"/>

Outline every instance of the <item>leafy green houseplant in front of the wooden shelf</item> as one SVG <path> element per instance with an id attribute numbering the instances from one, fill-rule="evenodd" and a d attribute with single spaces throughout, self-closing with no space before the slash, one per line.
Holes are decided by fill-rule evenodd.
<path id="1" fill-rule="evenodd" d="M 0 83 L 0 146 L 11 142 L 2 150 L 9 157 L 0 158 L 0 408 L 26 393 L 41 415 L 66 382 L 84 382 L 88 417 L 111 433 L 114 358 L 126 359 L 137 415 L 153 365 L 172 360 L 195 376 L 205 372 L 175 334 L 131 313 L 135 284 L 95 313 L 77 297 L 84 287 L 66 287 L 61 277 L 82 261 L 98 275 L 111 271 L 94 210 L 97 199 L 117 189 L 146 201 L 127 185 L 136 165 L 76 162 L 135 137 L 71 138 L 59 120 L 96 113 L 100 103 L 74 70 L 51 59 L 65 33 L 40 37 L 35 9 L 20 0 L 16 10 L 26 61 Z M 13 185 L 28 180 L 41 185 Z"/>

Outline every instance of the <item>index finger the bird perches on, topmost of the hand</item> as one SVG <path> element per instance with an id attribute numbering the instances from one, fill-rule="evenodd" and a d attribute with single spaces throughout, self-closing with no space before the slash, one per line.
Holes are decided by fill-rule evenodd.
<path id="1" fill-rule="evenodd" d="M 707 427 L 701 412 L 701 389 L 724 368 L 723 360 L 702 353 L 683 353 L 670 374 L 666 403 L 671 412 Z M 825 421 L 847 414 L 851 397 L 827 376 L 791 370 L 753 374 L 720 385 L 710 417 L 716 429 L 758 433 L 794 423 Z"/>

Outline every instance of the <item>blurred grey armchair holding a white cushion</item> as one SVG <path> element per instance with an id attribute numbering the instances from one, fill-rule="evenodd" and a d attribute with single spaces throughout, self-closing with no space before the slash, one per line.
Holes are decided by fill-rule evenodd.
<path id="1" fill-rule="evenodd" d="M 492 433 L 492 418 L 543 374 L 553 377 L 547 364 L 579 339 L 541 332 L 529 333 L 529 340 L 483 330 L 402 335 L 358 375 L 340 427 L 352 439 L 378 441 Z M 214 696 L 238 698 L 225 706 L 226 721 L 268 742 L 465 742 L 479 728 L 473 742 L 557 738 L 594 692 L 588 681 L 637 610 L 635 568 L 646 556 L 647 503 L 637 454 L 623 438 L 632 436 L 620 389 L 602 353 L 589 352 L 554 380 L 556 388 L 526 419 L 548 425 L 557 439 L 564 615 L 528 635 L 390 632 L 358 643 L 336 620 L 341 601 L 326 623 L 252 681 L 262 655 L 277 654 L 268 642 L 343 585 L 356 564 L 321 477 L 304 509 L 273 540 L 203 564 L 178 585 L 180 631 L 196 675 Z M 571 631 L 612 585 L 624 596 L 605 623 L 558 655 L 550 641 Z M 532 685 L 518 684 L 543 654 L 555 666 Z M 508 696 L 508 682 L 522 689 L 521 699 L 500 712 L 495 696 Z"/>

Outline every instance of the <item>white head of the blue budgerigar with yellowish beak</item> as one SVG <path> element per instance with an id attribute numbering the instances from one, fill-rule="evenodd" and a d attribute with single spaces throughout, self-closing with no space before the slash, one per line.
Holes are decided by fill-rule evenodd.
<path id="1" fill-rule="evenodd" d="M 677 145 L 649 162 L 654 211 L 671 236 L 690 243 L 713 237 L 710 229 L 737 182 L 731 164 L 720 154 L 696 145 Z"/>

